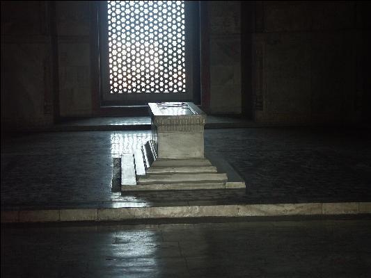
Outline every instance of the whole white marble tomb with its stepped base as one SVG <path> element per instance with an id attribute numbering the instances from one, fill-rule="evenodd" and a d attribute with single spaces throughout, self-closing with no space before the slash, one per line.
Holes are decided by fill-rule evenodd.
<path id="1" fill-rule="evenodd" d="M 246 188 L 221 158 L 204 154 L 207 115 L 191 102 L 148 104 L 152 140 L 121 158 L 121 191 Z M 218 160 L 214 163 L 215 160 Z M 221 167 L 216 167 L 221 165 Z M 228 174 L 233 181 L 228 181 Z"/>

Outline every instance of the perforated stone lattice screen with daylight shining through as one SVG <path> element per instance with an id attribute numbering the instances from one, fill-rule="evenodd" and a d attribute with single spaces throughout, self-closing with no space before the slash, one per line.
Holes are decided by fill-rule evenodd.
<path id="1" fill-rule="evenodd" d="M 111 94 L 186 92 L 184 1 L 108 1 Z"/>

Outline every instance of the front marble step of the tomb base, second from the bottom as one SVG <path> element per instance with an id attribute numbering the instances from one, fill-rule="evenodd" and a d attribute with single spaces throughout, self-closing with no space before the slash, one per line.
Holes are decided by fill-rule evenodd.
<path id="1" fill-rule="evenodd" d="M 228 177 L 226 173 L 193 173 L 193 174 L 147 174 L 139 177 L 137 184 L 156 183 L 225 183 Z"/>

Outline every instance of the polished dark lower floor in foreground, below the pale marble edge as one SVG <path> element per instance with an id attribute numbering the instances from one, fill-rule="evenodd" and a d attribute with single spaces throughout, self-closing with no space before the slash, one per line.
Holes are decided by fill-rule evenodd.
<path id="1" fill-rule="evenodd" d="M 283 219 L 2 227 L 1 277 L 370 277 L 370 218 Z"/>

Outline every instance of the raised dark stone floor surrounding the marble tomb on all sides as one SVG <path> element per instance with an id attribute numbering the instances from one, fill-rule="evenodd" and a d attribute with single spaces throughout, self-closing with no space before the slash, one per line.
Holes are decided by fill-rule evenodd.
<path id="1" fill-rule="evenodd" d="M 206 129 L 205 152 L 226 159 L 247 190 L 111 193 L 113 157 L 150 131 L 17 133 L 1 138 L 1 210 L 370 202 L 367 129 Z"/>

